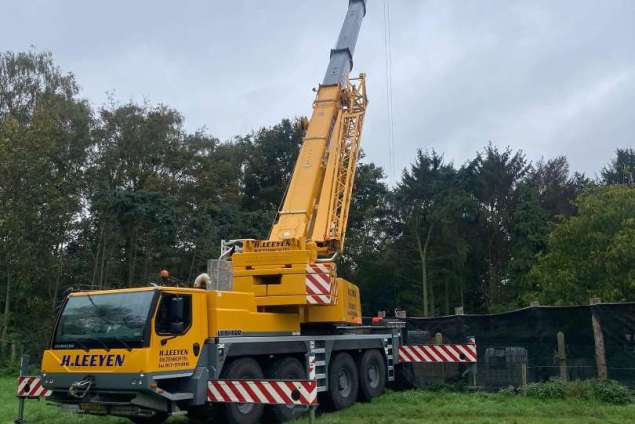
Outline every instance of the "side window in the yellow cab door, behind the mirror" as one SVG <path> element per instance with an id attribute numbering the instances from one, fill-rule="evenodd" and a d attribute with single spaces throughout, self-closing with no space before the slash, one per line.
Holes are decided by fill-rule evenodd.
<path id="1" fill-rule="evenodd" d="M 162 293 L 157 311 L 157 334 L 184 334 L 192 326 L 192 296 Z"/>

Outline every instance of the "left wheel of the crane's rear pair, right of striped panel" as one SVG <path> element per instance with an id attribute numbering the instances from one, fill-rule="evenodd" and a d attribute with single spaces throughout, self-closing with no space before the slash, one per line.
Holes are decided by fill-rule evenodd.
<path id="1" fill-rule="evenodd" d="M 328 401 L 338 411 L 355 403 L 359 392 L 359 373 L 353 357 L 338 353 L 329 367 Z"/>

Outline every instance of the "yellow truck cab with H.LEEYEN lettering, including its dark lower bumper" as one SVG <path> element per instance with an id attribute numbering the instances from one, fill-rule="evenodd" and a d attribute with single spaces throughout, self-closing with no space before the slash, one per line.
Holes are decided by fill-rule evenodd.
<path id="1" fill-rule="evenodd" d="M 206 402 L 206 295 L 178 287 L 72 293 L 42 358 L 51 400 L 136 422 Z"/>

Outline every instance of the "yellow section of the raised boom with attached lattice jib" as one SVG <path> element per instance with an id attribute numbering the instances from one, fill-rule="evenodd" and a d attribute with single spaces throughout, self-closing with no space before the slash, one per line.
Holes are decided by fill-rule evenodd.
<path id="1" fill-rule="evenodd" d="M 320 253 L 341 252 L 366 103 L 363 74 L 345 87 L 320 87 L 269 240 L 313 241 Z"/>

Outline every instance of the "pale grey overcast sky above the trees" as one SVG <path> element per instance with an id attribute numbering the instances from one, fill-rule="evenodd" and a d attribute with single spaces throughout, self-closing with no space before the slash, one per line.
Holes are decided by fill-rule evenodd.
<path id="1" fill-rule="evenodd" d="M 93 104 L 164 103 L 229 139 L 308 115 L 346 0 L 2 0 L 0 50 L 34 45 Z M 367 160 L 389 177 L 435 149 L 460 165 L 488 141 L 597 175 L 635 145 L 635 1 L 368 0 L 354 72 L 368 75 Z M 392 178 L 391 178 L 392 179 Z"/>

